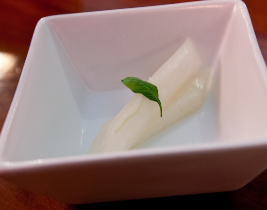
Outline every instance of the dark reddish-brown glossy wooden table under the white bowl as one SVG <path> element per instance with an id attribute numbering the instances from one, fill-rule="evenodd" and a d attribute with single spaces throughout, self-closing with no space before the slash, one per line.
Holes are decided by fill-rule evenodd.
<path id="1" fill-rule="evenodd" d="M 0 77 L 0 129 L 2 128 L 20 77 L 34 27 L 43 16 L 150 6 L 189 0 L 1 0 L 0 51 L 12 53 L 15 65 Z M 244 0 L 265 61 L 267 61 L 267 0 Z M 2 76 L 3 75 L 3 76 Z M 213 201 L 213 202 L 212 202 Z M 216 206 L 214 206 L 214 203 Z M 72 205 L 33 194 L 0 179 L 0 210 L 83 210 L 94 207 L 203 207 L 204 209 L 266 210 L 267 170 L 234 192 L 173 196 L 164 198 Z M 191 209 L 191 208 L 189 208 Z"/>

